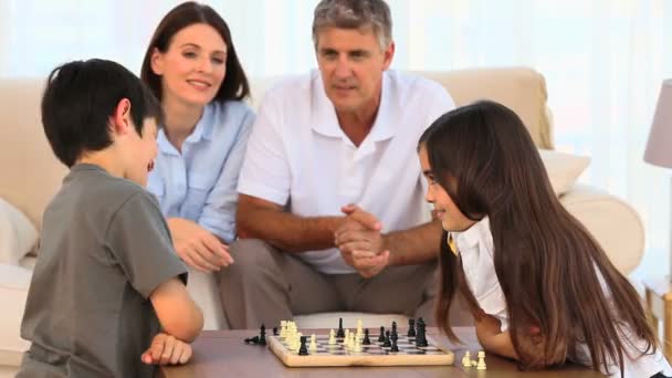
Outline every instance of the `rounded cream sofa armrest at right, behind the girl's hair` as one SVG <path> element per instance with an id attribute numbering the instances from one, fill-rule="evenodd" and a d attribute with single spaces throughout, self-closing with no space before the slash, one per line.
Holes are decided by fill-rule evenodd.
<path id="1" fill-rule="evenodd" d="M 589 186 L 576 185 L 560 202 L 602 246 L 623 275 L 639 265 L 644 253 L 644 227 L 627 202 Z"/>

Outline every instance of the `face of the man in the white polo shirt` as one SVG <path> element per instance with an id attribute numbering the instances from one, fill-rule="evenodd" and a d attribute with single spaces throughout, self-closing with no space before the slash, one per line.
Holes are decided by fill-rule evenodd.
<path id="1" fill-rule="evenodd" d="M 370 28 L 325 28 L 317 33 L 317 64 L 327 97 L 337 112 L 378 106 L 382 72 L 393 53 L 393 43 L 380 50 Z"/>

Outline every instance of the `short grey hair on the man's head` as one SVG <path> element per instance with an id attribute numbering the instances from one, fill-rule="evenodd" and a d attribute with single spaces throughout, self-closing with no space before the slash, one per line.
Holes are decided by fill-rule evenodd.
<path id="1" fill-rule="evenodd" d="M 380 50 L 392 42 L 392 18 L 384 0 L 322 0 L 313 18 L 313 43 L 317 49 L 317 33 L 325 28 L 371 28 Z"/>

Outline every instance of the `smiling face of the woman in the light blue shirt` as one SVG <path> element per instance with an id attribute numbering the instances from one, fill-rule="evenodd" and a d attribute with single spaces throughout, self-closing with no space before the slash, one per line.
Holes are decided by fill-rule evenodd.
<path id="1" fill-rule="evenodd" d="M 161 76 L 164 102 L 204 106 L 224 81 L 227 44 L 209 24 L 191 24 L 172 35 L 165 53 L 155 49 L 151 70 Z"/>

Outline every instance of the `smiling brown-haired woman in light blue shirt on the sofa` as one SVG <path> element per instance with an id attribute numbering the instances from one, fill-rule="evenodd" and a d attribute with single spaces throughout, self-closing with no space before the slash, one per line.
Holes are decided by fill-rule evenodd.
<path id="1" fill-rule="evenodd" d="M 254 119 L 229 27 L 210 7 L 186 2 L 159 23 L 141 78 L 166 115 L 148 189 L 168 218 L 178 255 L 218 271 L 233 262 L 235 190 Z"/>

